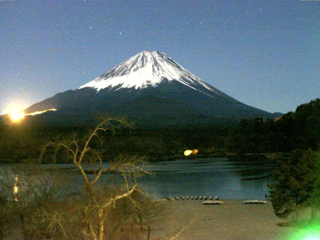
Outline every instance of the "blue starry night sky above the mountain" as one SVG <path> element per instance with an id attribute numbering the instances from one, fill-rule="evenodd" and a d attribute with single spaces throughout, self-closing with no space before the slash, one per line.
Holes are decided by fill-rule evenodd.
<path id="1" fill-rule="evenodd" d="M 0 113 L 153 49 L 285 113 L 320 97 L 320 0 L 0 0 Z"/>

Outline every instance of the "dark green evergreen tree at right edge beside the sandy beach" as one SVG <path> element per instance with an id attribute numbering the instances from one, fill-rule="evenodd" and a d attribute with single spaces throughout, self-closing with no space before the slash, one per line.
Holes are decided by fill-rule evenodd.
<path id="1" fill-rule="evenodd" d="M 317 171 L 317 157 L 311 149 L 294 150 L 289 158 L 276 159 L 273 171 L 276 183 L 269 185 L 275 215 L 287 217 L 296 213 L 302 203 L 314 197 Z"/>

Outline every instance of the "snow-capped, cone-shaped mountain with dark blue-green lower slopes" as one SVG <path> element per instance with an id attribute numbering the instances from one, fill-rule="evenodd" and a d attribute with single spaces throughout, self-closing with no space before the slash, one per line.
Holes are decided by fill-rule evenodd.
<path id="1" fill-rule="evenodd" d="M 127 116 L 141 126 L 201 124 L 222 118 L 274 117 L 221 92 L 163 52 L 141 51 L 75 90 L 35 103 L 54 121 L 89 121 L 97 113 Z M 76 120 L 75 120 L 76 119 Z"/>

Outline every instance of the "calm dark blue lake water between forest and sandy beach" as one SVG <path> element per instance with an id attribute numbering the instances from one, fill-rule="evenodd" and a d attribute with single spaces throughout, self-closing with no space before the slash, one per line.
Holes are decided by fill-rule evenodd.
<path id="1" fill-rule="evenodd" d="M 43 164 L 45 168 L 52 164 Z M 56 164 L 68 168 L 72 164 Z M 85 167 L 89 169 L 89 166 Z M 220 199 L 264 199 L 272 182 L 273 166 L 262 157 L 201 158 L 162 161 L 145 164 L 150 174 L 137 179 L 138 187 L 156 198 L 206 195 Z M 120 181 L 120 174 L 112 176 Z M 82 184 L 81 176 L 74 172 L 72 181 Z"/>

